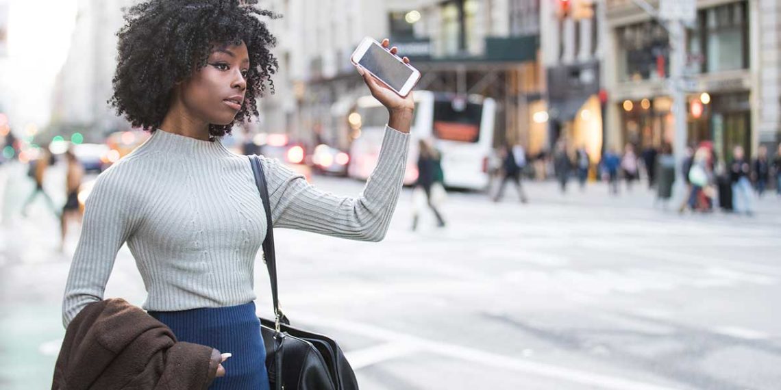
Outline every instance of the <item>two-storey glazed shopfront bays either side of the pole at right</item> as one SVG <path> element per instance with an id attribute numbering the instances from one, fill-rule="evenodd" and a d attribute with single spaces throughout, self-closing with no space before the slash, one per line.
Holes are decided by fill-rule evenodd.
<path id="1" fill-rule="evenodd" d="M 719 158 L 731 158 L 736 145 L 747 153 L 754 149 L 750 99 L 756 86 L 749 70 L 748 26 L 747 2 L 732 2 L 699 9 L 697 23 L 687 30 L 686 140 L 712 141 Z M 672 144 L 665 30 L 647 21 L 614 31 L 618 67 L 609 108 L 612 145 Z"/>

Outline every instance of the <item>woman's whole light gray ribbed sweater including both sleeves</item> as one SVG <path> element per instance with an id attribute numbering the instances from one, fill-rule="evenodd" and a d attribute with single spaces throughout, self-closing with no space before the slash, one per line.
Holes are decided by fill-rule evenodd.
<path id="1" fill-rule="evenodd" d="M 337 197 L 279 161 L 261 158 L 275 227 L 383 239 L 401 192 L 409 135 L 388 127 L 363 192 Z M 103 299 L 127 241 L 148 292 L 146 310 L 226 307 L 255 300 L 253 268 L 266 215 L 246 156 L 221 141 L 156 130 L 95 182 L 62 303 L 67 327 Z"/>

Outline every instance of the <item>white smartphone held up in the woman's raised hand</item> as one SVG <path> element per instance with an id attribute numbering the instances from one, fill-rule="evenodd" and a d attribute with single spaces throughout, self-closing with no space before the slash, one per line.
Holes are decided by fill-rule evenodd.
<path id="1" fill-rule="evenodd" d="M 399 96 L 405 97 L 420 80 L 420 71 L 401 58 L 391 54 L 390 49 L 383 48 L 380 42 L 371 37 L 365 37 L 358 48 L 350 56 L 353 65 L 360 65 L 369 71 L 387 87 Z"/>

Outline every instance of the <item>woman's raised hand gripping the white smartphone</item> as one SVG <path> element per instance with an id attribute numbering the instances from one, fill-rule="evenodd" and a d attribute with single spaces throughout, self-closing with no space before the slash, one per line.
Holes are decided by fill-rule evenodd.
<path id="1" fill-rule="evenodd" d="M 383 48 L 387 48 L 391 45 L 391 41 L 387 38 L 383 39 Z M 395 46 L 391 48 L 391 54 L 396 55 L 398 48 Z M 409 58 L 404 57 L 401 59 L 405 64 L 409 63 Z M 394 90 L 388 88 L 376 77 L 372 76 L 366 69 L 358 65 L 358 73 L 361 73 L 363 80 L 366 82 L 366 86 L 372 92 L 372 96 L 380 101 L 385 108 L 388 109 L 388 113 L 391 118 L 388 120 L 388 126 L 391 126 L 403 133 L 409 133 L 409 127 L 412 125 L 412 111 L 415 109 L 415 101 L 412 98 L 412 91 L 406 97 L 401 97 Z"/>

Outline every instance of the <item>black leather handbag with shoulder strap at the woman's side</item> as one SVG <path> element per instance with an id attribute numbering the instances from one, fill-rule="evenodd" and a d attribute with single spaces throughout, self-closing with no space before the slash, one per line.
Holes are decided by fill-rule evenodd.
<path id="1" fill-rule="evenodd" d="M 260 317 L 263 344 L 266 346 L 266 370 L 271 388 L 276 390 L 357 390 L 358 381 L 347 358 L 328 336 L 293 328 L 280 310 L 276 293 L 276 257 L 271 221 L 269 190 L 258 156 L 249 156 L 255 184 L 266 211 L 266 239 L 263 261 L 269 269 L 274 319 Z"/>

